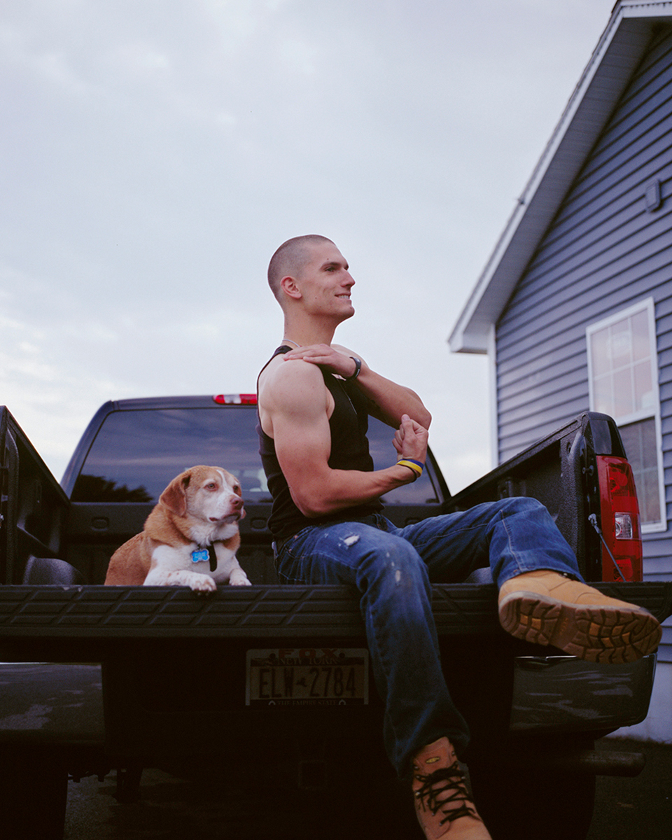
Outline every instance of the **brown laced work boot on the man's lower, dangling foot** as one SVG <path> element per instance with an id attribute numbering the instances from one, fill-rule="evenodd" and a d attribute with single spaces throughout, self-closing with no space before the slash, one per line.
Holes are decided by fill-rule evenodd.
<path id="1" fill-rule="evenodd" d="M 428 840 L 492 840 L 471 801 L 448 738 L 428 744 L 413 759 L 413 795 L 417 819 Z"/>

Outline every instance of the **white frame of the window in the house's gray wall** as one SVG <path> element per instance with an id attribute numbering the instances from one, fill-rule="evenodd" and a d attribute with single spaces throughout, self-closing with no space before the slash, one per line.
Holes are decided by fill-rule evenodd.
<path id="1" fill-rule="evenodd" d="M 660 422 L 660 392 L 659 392 L 659 368 L 658 368 L 658 344 L 656 337 L 656 319 L 655 319 L 655 305 L 654 298 L 648 297 L 643 301 L 634 303 L 633 306 L 622 309 L 619 312 L 614 312 L 608 318 L 603 318 L 601 321 L 591 323 L 585 329 L 585 338 L 587 343 L 588 353 L 588 395 L 590 401 L 591 411 L 595 411 L 594 386 L 593 386 L 593 370 L 592 370 L 592 353 L 591 353 L 591 337 L 593 333 L 597 333 L 612 324 L 622 321 L 639 312 L 646 312 L 648 316 L 648 337 L 651 343 L 651 383 L 654 390 L 654 405 L 652 407 L 643 408 L 640 411 L 631 414 L 623 415 L 622 417 L 614 417 L 617 426 L 627 426 L 630 423 L 637 423 L 641 420 L 654 419 L 656 430 L 656 459 L 658 462 L 658 485 L 659 485 L 659 504 L 660 504 L 660 519 L 659 522 L 648 522 L 642 524 L 642 533 L 658 533 L 667 530 L 667 509 L 665 506 L 665 481 L 664 481 L 664 467 L 663 467 L 663 433 Z"/>

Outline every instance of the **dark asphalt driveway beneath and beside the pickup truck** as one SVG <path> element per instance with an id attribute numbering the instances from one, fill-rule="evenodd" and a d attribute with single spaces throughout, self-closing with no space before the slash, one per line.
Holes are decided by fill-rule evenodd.
<path id="1" fill-rule="evenodd" d="M 669 840 L 672 826 L 672 745 L 607 738 L 601 749 L 643 752 L 647 763 L 637 777 L 600 776 L 596 811 L 588 840 Z M 339 814 L 319 794 L 274 790 L 260 773 L 239 785 L 215 777 L 186 781 L 163 770 L 145 770 L 142 799 L 120 804 L 115 775 L 102 782 L 70 785 L 66 840 L 301 840 L 333 836 L 340 817 L 349 817 L 349 837 L 357 837 L 357 811 L 375 809 L 375 797 L 356 805 L 344 801 Z M 571 807 L 571 803 L 568 803 Z M 376 840 L 373 834 L 362 837 Z M 408 832 L 409 840 L 418 837 Z M 381 835 L 382 837 L 382 835 Z M 543 838 L 530 838 L 543 840 Z"/>

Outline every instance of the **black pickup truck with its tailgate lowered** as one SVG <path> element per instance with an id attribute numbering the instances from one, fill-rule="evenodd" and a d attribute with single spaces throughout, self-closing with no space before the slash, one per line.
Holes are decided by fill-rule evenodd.
<path id="1" fill-rule="evenodd" d="M 381 703 L 354 593 L 277 582 L 256 423 L 254 395 L 107 402 L 58 484 L 0 407 L 6 836 L 62 837 L 69 779 L 116 770 L 118 798 L 132 800 L 144 768 L 194 762 L 249 772 L 260 799 L 282 785 L 325 803 L 336 796 L 330 826 L 334 815 L 356 813 L 362 831 L 371 808 L 358 808 L 357 796 L 370 801 L 375 789 L 385 806 L 373 809 L 367 836 L 419 836 L 410 792 L 382 754 Z M 387 465 L 391 430 L 373 419 L 370 445 L 375 465 Z M 196 464 L 223 466 L 241 482 L 239 561 L 252 586 L 211 596 L 103 586 L 113 551 L 142 530 L 170 480 Z M 601 591 L 661 621 L 672 613 L 672 583 L 642 580 L 632 472 L 605 415 L 576 417 L 455 496 L 429 453 L 422 478 L 383 501 L 402 525 L 507 495 L 549 508 Z M 444 672 L 472 731 L 465 760 L 476 801 L 494 840 L 581 840 L 596 774 L 643 766 L 639 754 L 594 743 L 646 717 L 656 656 L 594 665 L 517 641 L 499 627 L 488 574 L 433 587 Z"/>

